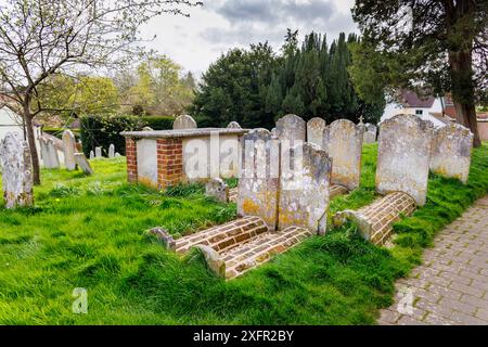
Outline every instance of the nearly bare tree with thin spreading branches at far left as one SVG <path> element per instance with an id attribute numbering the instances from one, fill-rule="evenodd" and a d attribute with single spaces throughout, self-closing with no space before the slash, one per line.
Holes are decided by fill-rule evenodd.
<path id="1" fill-rule="evenodd" d="M 160 14 L 185 15 L 193 0 L 2 0 L 0 95 L 18 104 L 40 184 L 33 118 L 46 111 L 39 86 L 51 75 L 120 64 L 141 52 L 139 27 Z"/>

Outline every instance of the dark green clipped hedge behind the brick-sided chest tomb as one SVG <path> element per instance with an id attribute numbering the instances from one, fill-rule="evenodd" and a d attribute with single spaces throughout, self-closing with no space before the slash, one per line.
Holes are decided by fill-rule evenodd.
<path id="1" fill-rule="evenodd" d="M 168 116 L 138 117 L 129 115 L 81 117 L 81 141 L 85 155 L 89 156 L 90 151 L 94 151 L 95 146 L 101 146 L 103 155 L 106 156 L 111 143 L 115 145 L 116 152 L 125 155 L 126 141 L 120 132 L 142 130 L 144 127 L 151 127 L 154 130 L 171 129 L 172 119 Z"/>

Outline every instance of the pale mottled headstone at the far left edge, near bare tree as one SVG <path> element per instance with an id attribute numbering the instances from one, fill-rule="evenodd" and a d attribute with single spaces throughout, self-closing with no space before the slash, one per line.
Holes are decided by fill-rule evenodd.
<path id="1" fill-rule="evenodd" d="M 3 167 L 2 190 L 7 208 L 31 206 L 33 167 L 26 141 L 16 132 L 8 132 L 0 144 Z"/>

